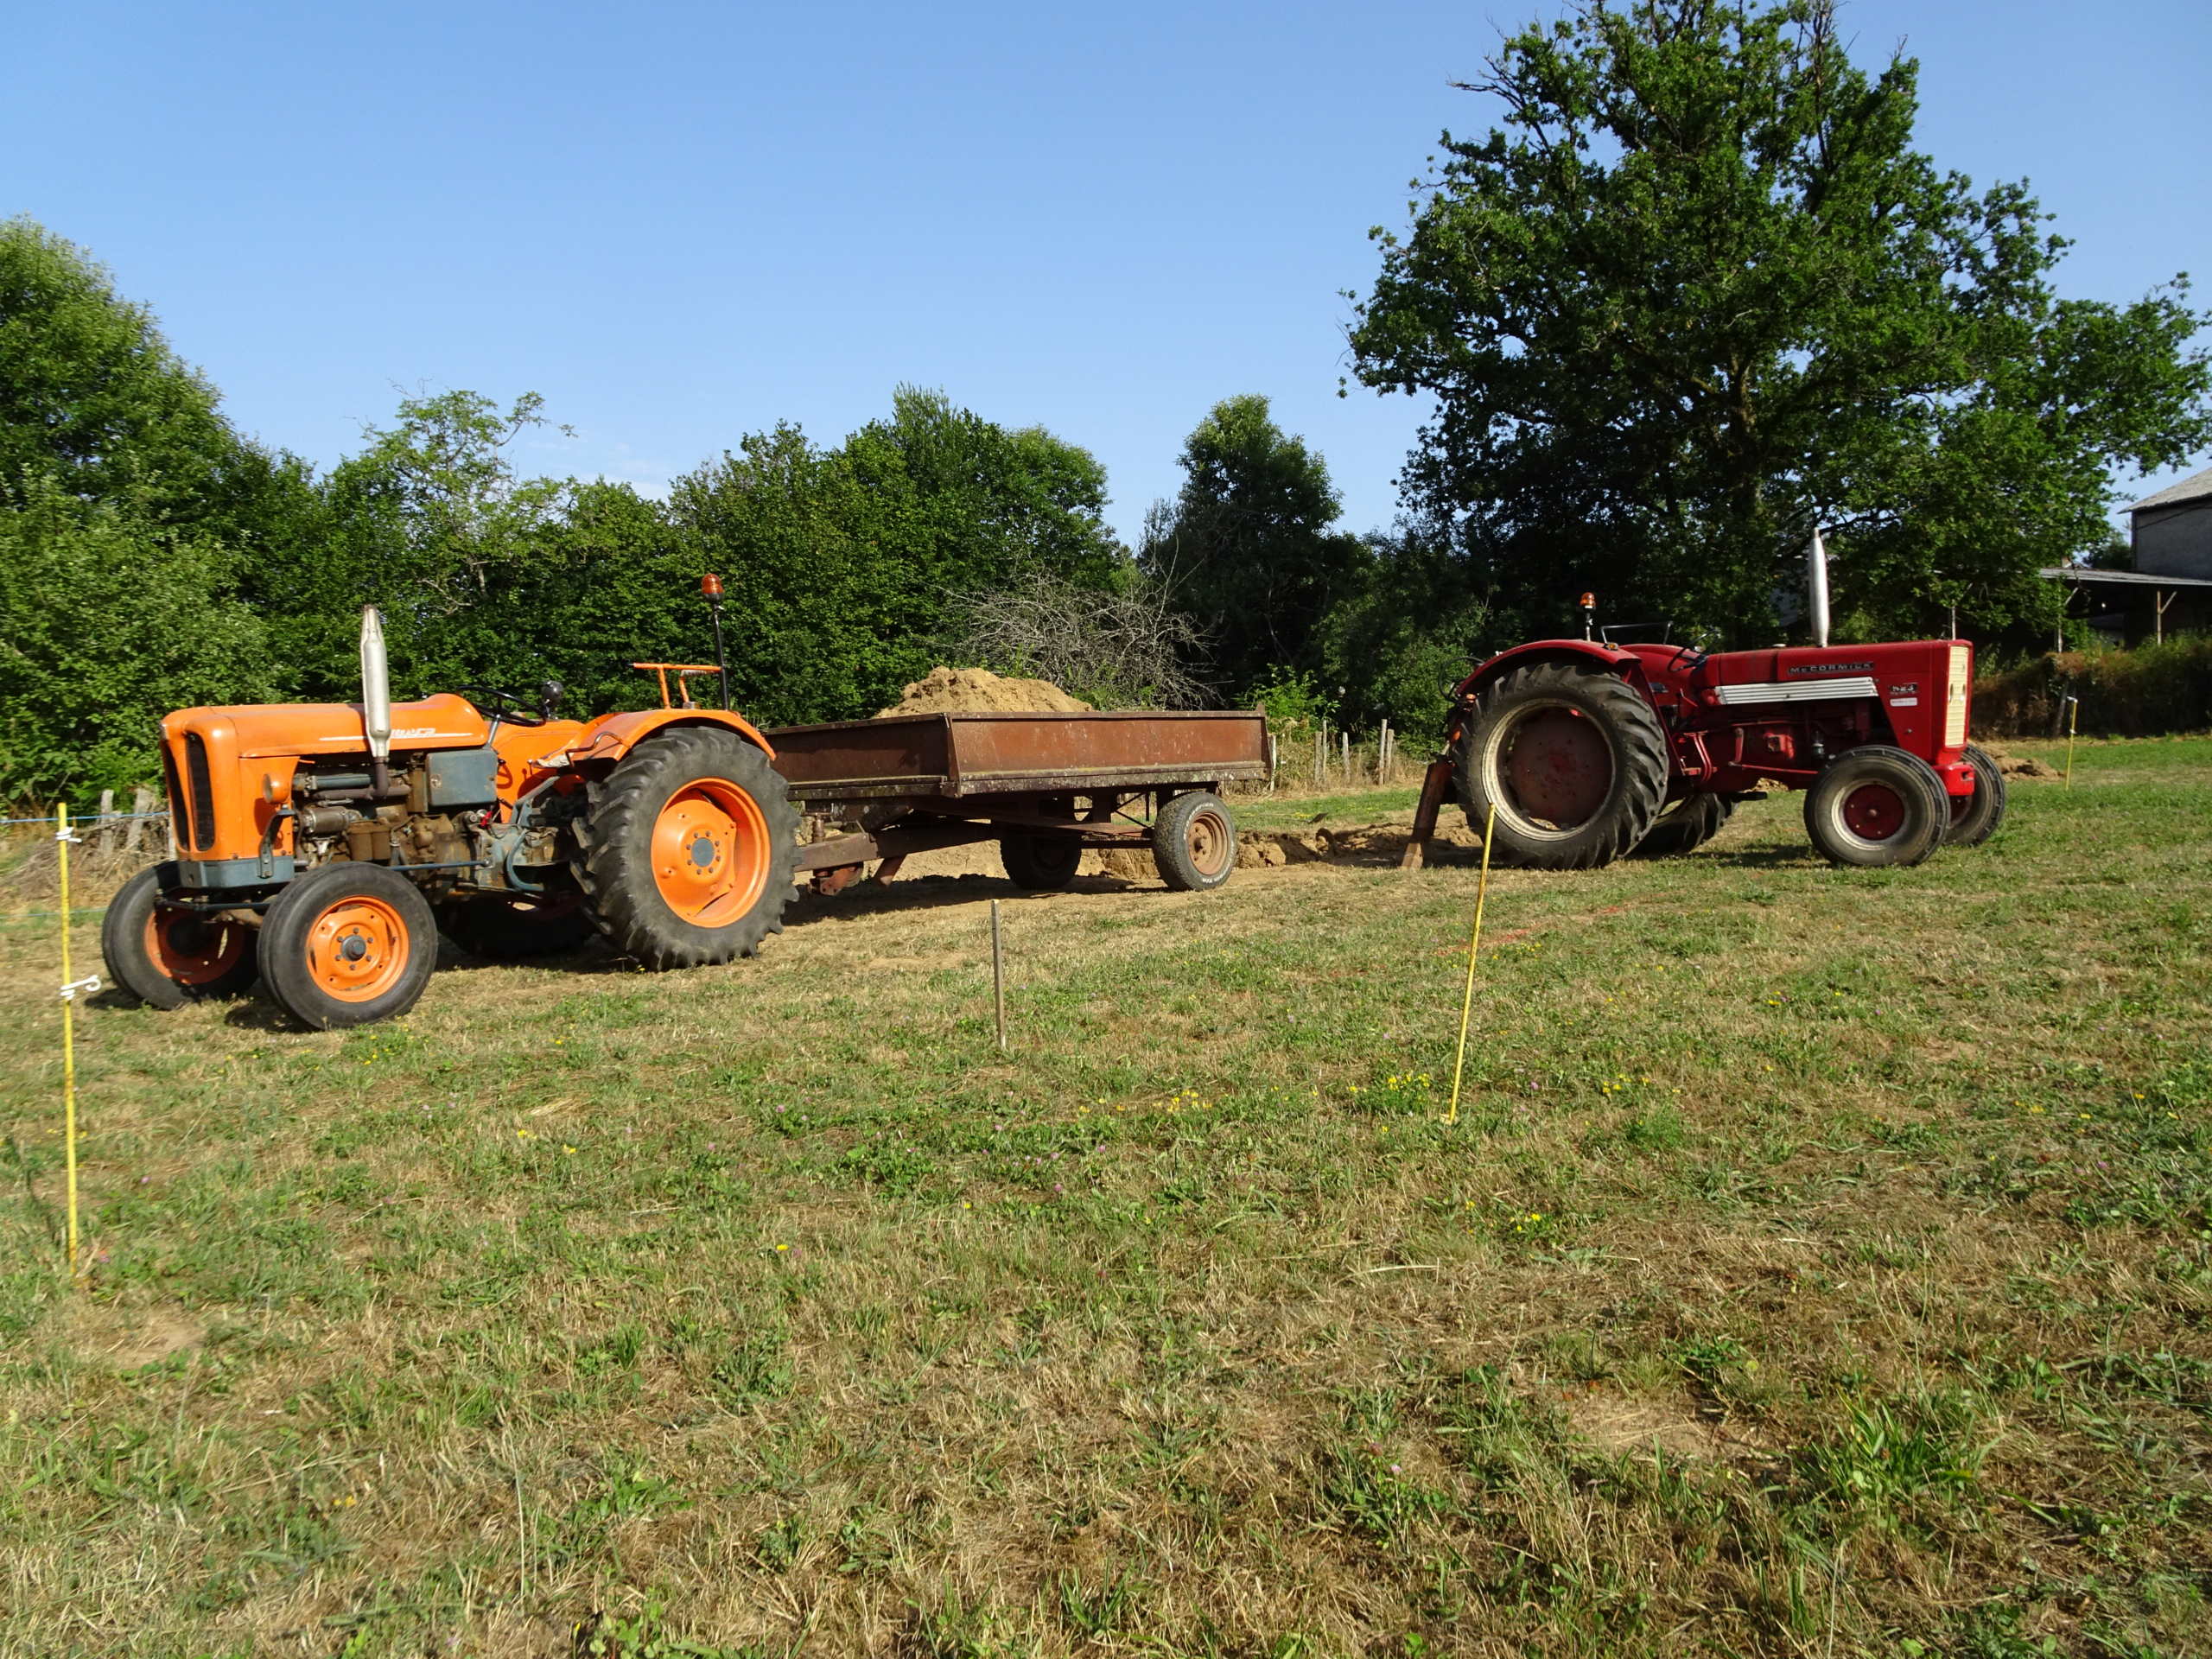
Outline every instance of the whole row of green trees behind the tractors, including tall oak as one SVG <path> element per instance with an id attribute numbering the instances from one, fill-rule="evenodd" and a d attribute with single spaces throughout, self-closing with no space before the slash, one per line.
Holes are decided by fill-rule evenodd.
<path id="1" fill-rule="evenodd" d="M 1135 546 L 1079 445 L 902 387 L 836 445 L 739 438 L 666 495 L 533 478 L 535 396 L 403 398 L 327 471 L 239 434 L 153 314 L 0 223 L 0 799 L 144 781 L 201 701 L 349 699 L 363 604 L 400 690 L 568 688 L 706 648 L 739 703 L 847 719 L 936 661 L 1110 703 L 1250 703 L 1422 730 L 1473 657 L 1610 617 L 1710 646 L 1792 624 L 1827 529 L 1838 637 L 2057 622 L 2037 571 L 2110 555 L 2115 469 L 2212 445 L 2177 276 L 2059 299 L 2024 184 L 1911 146 L 1916 64 L 1851 64 L 1825 0 L 1573 4 L 1464 84 L 1352 296 L 1352 385 L 1427 400 L 1400 518 L 1354 533 L 1263 396 L 1208 411 Z"/>

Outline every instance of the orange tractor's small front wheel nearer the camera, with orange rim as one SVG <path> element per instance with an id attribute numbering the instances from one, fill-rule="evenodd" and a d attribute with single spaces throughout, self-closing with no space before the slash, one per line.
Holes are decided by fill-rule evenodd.
<path id="1" fill-rule="evenodd" d="M 316 1031 L 407 1013 L 438 967 L 438 925 L 422 889 L 385 865 L 319 865 L 261 920 L 261 982 Z"/>

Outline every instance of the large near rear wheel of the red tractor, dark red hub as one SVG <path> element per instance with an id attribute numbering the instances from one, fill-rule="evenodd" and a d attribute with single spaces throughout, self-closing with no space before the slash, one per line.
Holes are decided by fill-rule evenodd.
<path id="1" fill-rule="evenodd" d="M 1666 803 L 1666 728 L 1608 668 L 1540 661 L 1493 681 L 1453 757 L 1467 821 L 1498 807 L 1498 852 L 1535 869 L 1590 869 L 1637 847 Z"/>

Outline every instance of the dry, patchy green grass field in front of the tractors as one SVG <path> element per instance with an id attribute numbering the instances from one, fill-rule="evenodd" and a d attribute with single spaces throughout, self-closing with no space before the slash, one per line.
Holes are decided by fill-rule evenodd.
<path id="1" fill-rule="evenodd" d="M 1455 1124 L 1464 863 L 100 1002 L 82 1290 L 0 925 L 0 1650 L 2212 1652 L 2208 876 L 2201 739 L 1509 872 Z"/>

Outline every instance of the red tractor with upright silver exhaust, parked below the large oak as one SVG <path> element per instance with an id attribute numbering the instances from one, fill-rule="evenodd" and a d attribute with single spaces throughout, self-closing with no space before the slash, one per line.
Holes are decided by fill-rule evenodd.
<path id="1" fill-rule="evenodd" d="M 1590 599 L 1584 595 L 1584 606 Z M 1535 869 L 1688 852 L 1759 783 L 1805 790 L 1805 832 L 1838 865 L 1916 865 L 2004 821 L 2004 776 L 1966 741 L 1973 646 L 1692 646 L 1537 639 L 1453 692 L 1405 863 L 1444 792 L 1493 852 Z"/>

